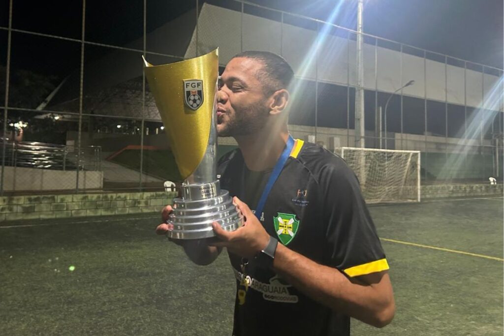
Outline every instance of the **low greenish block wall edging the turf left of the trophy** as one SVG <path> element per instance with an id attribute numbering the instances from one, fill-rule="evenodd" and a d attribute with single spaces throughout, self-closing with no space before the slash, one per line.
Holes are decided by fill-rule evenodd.
<path id="1" fill-rule="evenodd" d="M 0 197 L 0 222 L 160 212 L 176 192 L 120 192 Z"/>

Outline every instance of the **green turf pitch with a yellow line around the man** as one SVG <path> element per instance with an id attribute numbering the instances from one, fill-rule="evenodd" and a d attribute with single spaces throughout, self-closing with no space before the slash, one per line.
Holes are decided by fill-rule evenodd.
<path id="1" fill-rule="evenodd" d="M 502 209 L 502 198 L 371 207 L 397 311 L 383 329 L 353 321 L 352 333 L 501 336 Z M 227 256 L 194 265 L 154 235 L 158 222 L 0 224 L 0 335 L 230 335 Z"/>

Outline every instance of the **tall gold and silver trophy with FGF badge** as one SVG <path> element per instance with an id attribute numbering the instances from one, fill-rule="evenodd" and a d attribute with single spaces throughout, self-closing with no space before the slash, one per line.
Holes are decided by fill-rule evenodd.
<path id="1" fill-rule="evenodd" d="M 229 192 L 220 188 L 216 173 L 219 49 L 170 64 L 152 65 L 145 58 L 144 63 L 168 143 L 184 179 L 181 198 L 173 200 L 167 236 L 213 237 L 213 222 L 227 231 L 237 229 L 243 224 L 243 216 Z"/>

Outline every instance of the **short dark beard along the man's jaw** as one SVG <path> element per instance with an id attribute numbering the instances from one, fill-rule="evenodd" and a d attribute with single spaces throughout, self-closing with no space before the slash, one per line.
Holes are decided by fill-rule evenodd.
<path id="1" fill-rule="evenodd" d="M 228 118 L 219 129 L 219 137 L 248 136 L 257 133 L 264 127 L 266 120 L 265 111 L 249 107 L 247 109 L 235 112 L 233 118 Z"/>

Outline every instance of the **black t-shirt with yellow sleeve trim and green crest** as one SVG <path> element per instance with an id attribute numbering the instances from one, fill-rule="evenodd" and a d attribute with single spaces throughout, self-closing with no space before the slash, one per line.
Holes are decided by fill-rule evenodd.
<path id="1" fill-rule="evenodd" d="M 221 158 L 218 174 L 221 187 L 254 210 L 271 171 L 249 171 L 234 150 Z M 260 222 L 291 250 L 347 277 L 389 268 L 355 174 L 320 146 L 296 141 Z M 242 260 L 232 253 L 229 259 L 237 286 L 233 335 L 350 334 L 348 316 L 308 298 L 254 260 L 246 266 L 250 285 L 243 296 Z"/>

